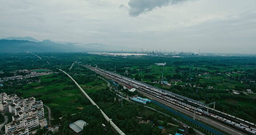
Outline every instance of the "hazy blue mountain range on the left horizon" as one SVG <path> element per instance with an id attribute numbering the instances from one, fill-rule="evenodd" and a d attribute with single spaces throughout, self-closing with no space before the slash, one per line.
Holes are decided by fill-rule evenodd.
<path id="1" fill-rule="evenodd" d="M 31 42 L 28 40 L 0 40 L 0 52 L 102 52 L 120 51 L 120 47 L 104 44 L 58 44 L 51 40 Z"/>

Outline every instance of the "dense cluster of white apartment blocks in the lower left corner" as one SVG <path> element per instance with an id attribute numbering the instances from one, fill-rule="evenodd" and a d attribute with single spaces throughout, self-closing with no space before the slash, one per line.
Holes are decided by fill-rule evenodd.
<path id="1" fill-rule="evenodd" d="M 12 122 L 5 125 L 5 135 L 28 135 L 28 130 L 38 127 L 39 119 L 44 119 L 43 102 L 34 97 L 23 99 L 1 93 L 0 111 L 13 114 Z"/>

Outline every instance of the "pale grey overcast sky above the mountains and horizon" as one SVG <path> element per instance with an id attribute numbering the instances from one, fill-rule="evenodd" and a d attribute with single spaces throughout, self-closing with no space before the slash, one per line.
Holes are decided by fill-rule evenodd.
<path id="1" fill-rule="evenodd" d="M 0 0 L 0 37 L 256 53 L 256 0 Z M 131 51 L 131 50 L 126 50 Z"/>

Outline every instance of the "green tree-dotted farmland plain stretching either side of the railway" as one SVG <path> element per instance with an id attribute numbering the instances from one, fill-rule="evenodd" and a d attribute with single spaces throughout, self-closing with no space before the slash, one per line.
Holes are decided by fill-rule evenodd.
<path id="1" fill-rule="evenodd" d="M 12 55 L 15 56 L 15 59 L 10 57 Z M 4 72 L 1 76 L 12 76 L 15 74 L 14 71 L 22 69 L 36 69 L 34 71 L 38 72 L 47 69 L 47 71 L 54 72 L 51 75 L 31 78 L 35 81 L 24 79 L 21 84 L 20 82 L 16 83 L 16 80 L 6 81 L 1 92 L 17 94 L 24 98 L 34 96 L 37 100 L 42 100 L 45 105 L 51 108 L 54 119 L 64 117 L 63 121 L 53 121 L 52 123 L 62 123 L 68 126 L 66 123 L 84 119 L 88 123 L 98 124 L 98 128 L 101 128 L 101 123 L 104 123 L 104 119 L 102 119 L 97 109 L 81 95 L 74 83 L 57 70 L 57 68 L 61 68 L 72 75 L 88 95 L 128 135 L 137 135 L 140 132 L 126 127 L 126 123 L 133 127 L 137 126 L 137 129 L 141 130 L 148 128 L 148 131 L 155 131 L 158 134 L 157 127 L 150 128 L 152 123 L 138 124 L 140 119 L 136 119 L 136 116 L 139 116 L 154 122 L 158 115 L 156 112 L 145 110 L 139 105 L 125 101 L 124 106 L 120 107 L 120 103 L 114 101 L 116 95 L 109 91 L 104 80 L 100 79 L 95 72 L 79 64 L 74 64 L 72 70 L 70 70 L 73 62 L 81 62 L 108 71 L 116 71 L 117 74 L 143 81 L 203 103 L 216 102 L 217 110 L 251 122 L 256 121 L 254 115 L 256 114 L 256 94 L 253 93 L 256 92 L 256 59 L 254 57 L 122 57 L 85 53 L 41 53 L 38 55 L 42 57 L 42 60 L 36 59 L 30 54 L 8 54 L 6 57 L 0 58 L 4 63 L 0 64 L 0 71 Z M 18 63 L 14 64 L 15 61 L 18 61 Z M 22 61 L 24 62 L 22 63 Z M 164 62 L 166 62 L 165 66 L 155 64 Z M 8 69 L 6 64 L 9 64 Z M 162 84 L 161 81 L 166 81 L 168 84 Z M 252 93 L 247 90 L 251 90 Z M 149 104 L 149 106 L 157 108 L 152 104 Z M 45 111 L 45 113 L 48 112 Z M 77 115 L 70 116 L 71 114 Z M 72 121 L 65 119 L 67 116 L 72 118 Z M 93 119 L 97 119 L 97 122 Z M 163 122 L 165 120 L 164 116 L 160 115 L 156 119 Z M 165 125 L 166 122 L 163 122 L 157 122 L 156 125 Z M 108 125 L 108 123 L 105 124 Z M 173 127 L 170 128 L 171 133 L 174 133 L 175 130 Z M 68 132 L 68 130 L 63 129 L 60 129 L 60 131 L 63 135 Z"/>

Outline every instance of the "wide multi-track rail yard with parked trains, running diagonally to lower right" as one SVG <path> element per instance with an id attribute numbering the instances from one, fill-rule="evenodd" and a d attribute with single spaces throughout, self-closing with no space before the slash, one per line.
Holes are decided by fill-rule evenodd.
<path id="1" fill-rule="evenodd" d="M 206 107 L 203 103 L 196 100 L 141 83 L 122 75 L 115 74 L 111 71 L 105 71 L 89 65 L 84 65 L 84 67 L 87 67 L 115 82 L 135 87 L 141 94 L 172 107 L 185 115 L 194 117 L 204 123 L 208 123 L 220 131 L 225 131 L 231 135 L 256 135 L 255 123 Z"/>

